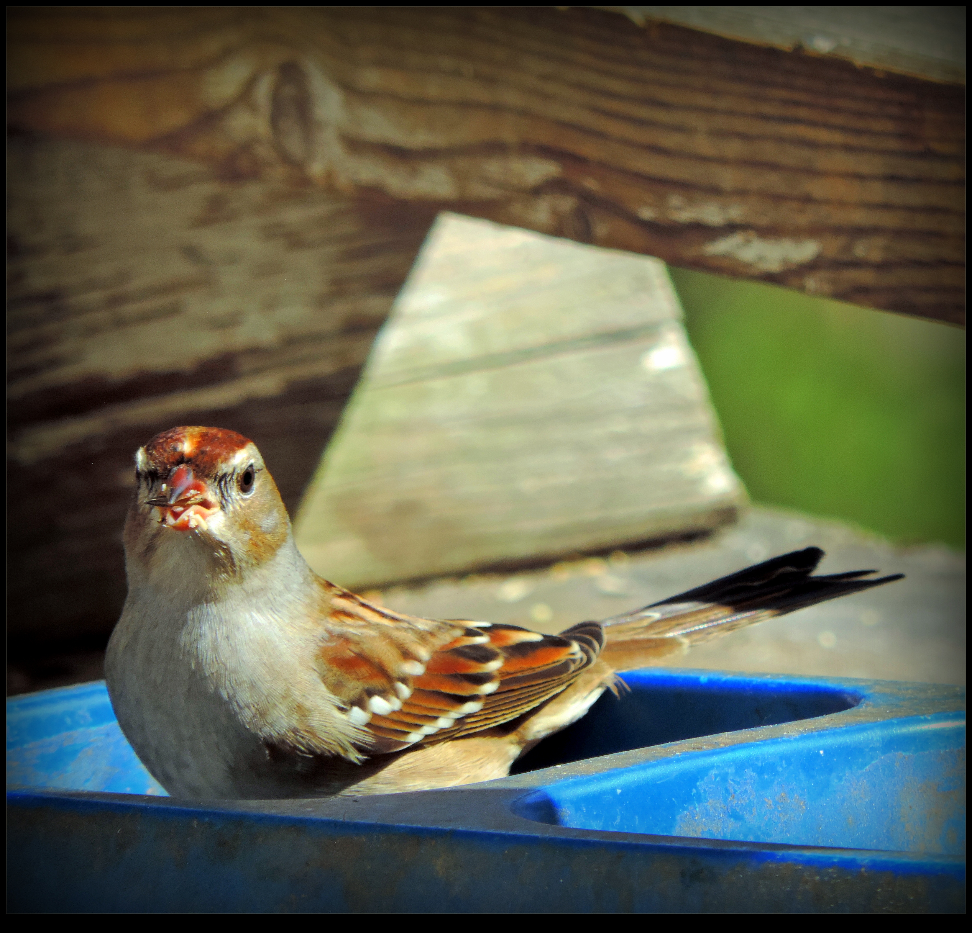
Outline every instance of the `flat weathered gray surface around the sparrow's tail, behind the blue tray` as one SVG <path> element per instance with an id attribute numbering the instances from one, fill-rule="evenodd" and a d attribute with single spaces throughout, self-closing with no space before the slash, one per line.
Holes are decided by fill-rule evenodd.
<path id="1" fill-rule="evenodd" d="M 734 632 L 692 649 L 678 665 L 965 683 L 964 555 L 939 545 L 899 548 L 837 521 L 776 509 L 753 508 L 694 543 L 369 595 L 418 615 L 559 631 L 808 545 L 826 552 L 823 573 L 876 568 L 906 578 Z"/>

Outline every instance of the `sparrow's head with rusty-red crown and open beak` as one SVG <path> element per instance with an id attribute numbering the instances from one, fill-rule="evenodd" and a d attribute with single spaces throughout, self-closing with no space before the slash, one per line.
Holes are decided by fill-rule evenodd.
<path id="1" fill-rule="evenodd" d="M 125 522 L 129 575 L 221 576 L 265 562 L 290 520 L 257 446 L 225 428 L 178 427 L 135 453 Z"/>

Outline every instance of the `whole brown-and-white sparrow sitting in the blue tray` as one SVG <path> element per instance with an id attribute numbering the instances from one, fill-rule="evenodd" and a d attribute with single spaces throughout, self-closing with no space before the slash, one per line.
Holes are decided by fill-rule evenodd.
<path id="1" fill-rule="evenodd" d="M 135 454 L 128 593 L 106 680 L 121 730 L 173 797 L 385 794 L 503 777 L 619 673 L 899 579 L 767 560 L 559 635 L 422 619 L 317 576 L 252 441 L 177 427 Z"/>

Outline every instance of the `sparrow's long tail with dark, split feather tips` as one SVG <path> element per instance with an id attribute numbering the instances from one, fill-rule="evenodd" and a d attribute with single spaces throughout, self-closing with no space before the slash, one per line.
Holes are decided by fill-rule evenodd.
<path id="1" fill-rule="evenodd" d="M 876 570 L 811 576 L 822 556 L 819 548 L 794 551 L 636 612 L 606 619 L 602 625 L 607 644 L 602 657 L 615 670 L 657 663 L 738 628 L 903 576 L 861 579 Z"/>

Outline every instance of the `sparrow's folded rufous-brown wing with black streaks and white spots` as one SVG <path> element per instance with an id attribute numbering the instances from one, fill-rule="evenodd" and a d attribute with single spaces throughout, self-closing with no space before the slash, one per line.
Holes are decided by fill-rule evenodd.
<path id="1" fill-rule="evenodd" d="M 596 622 L 560 635 L 400 615 L 338 588 L 319 652 L 326 685 L 371 754 L 468 736 L 569 686 L 604 645 Z"/>

